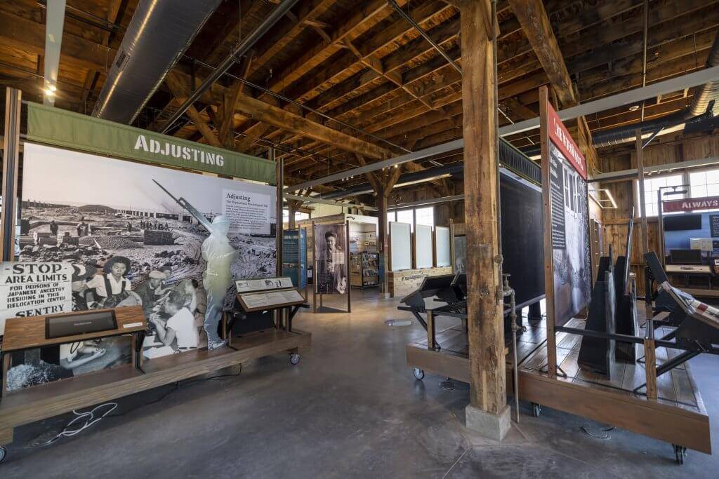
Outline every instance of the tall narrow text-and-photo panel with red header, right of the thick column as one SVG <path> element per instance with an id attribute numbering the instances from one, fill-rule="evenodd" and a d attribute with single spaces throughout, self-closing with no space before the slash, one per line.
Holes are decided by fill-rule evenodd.
<path id="1" fill-rule="evenodd" d="M 551 210 L 553 281 L 546 287 L 553 292 L 554 324 L 561 326 L 589 304 L 592 294 L 587 163 L 557 113 L 547 106 L 549 156 L 542 157 L 542 171 L 543 181 L 549 181 L 544 202 Z"/>

